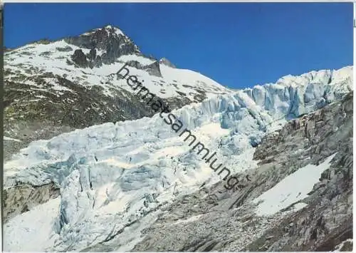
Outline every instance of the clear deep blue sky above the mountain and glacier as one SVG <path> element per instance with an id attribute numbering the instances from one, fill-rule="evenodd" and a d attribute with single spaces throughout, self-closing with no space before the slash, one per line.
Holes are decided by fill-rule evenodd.
<path id="1" fill-rule="evenodd" d="M 118 26 L 142 53 L 231 88 L 352 65 L 352 3 L 5 4 L 6 47 Z"/>

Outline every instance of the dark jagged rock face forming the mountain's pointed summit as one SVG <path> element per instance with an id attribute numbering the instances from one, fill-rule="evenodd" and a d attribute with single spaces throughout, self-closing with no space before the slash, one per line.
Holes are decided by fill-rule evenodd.
<path id="1" fill-rule="evenodd" d="M 130 53 L 140 53 L 139 48 L 131 41 L 130 38 L 123 35 L 120 31 L 112 26 L 105 26 L 103 29 L 95 29 L 89 33 L 84 33 L 80 36 L 68 37 L 64 40 L 67 43 L 79 46 L 80 48 L 90 49 L 90 58 L 92 63 L 90 66 L 100 66 L 103 64 L 110 64 L 123 55 Z M 104 51 L 100 60 L 95 58 L 93 50 Z"/>

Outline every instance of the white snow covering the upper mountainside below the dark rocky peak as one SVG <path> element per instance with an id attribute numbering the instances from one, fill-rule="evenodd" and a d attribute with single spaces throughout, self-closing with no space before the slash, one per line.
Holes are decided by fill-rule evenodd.
<path id="1" fill-rule="evenodd" d="M 130 38 L 125 36 L 119 29 L 112 26 L 105 26 L 103 29 L 95 29 L 91 33 L 105 31 L 108 33 L 108 37 L 103 38 L 105 43 L 113 38 L 123 37 L 123 43 L 129 43 Z M 120 31 L 120 32 L 119 32 Z M 60 41 L 53 41 L 48 43 L 31 43 L 20 48 L 16 48 L 12 51 L 4 54 L 4 71 L 6 71 L 5 80 L 8 82 L 19 81 L 21 76 L 21 82 L 28 84 L 29 86 L 36 86 L 36 88 L 46 88 L 47 92 L 53 90 L 58 95 L 63 95 L 61 91 L 69 91 L 75 93 L 75 91 L 66 88 L 58 83 L 56 76 L 64 77 L 69 81 L 75 81 L 79 86 L 90 88 L 92 86 L 100 86 L 103 88 L 103 93 L 108 96 L 115 95 L 113 90 L 125 89 L 130 93 L 132 90 L 129 86 L 122 86 L 117 82 L 108 82 L 108 76 L 112 73 L 116 73 L 124 63 L 130 62 L 132 66 L 135 66 L 137 75 L 140 76 L 140 80 L 145 81 L 145 86 L 150 89 L 152 93 L 161 97 L 177 97 L 180 96 L 177 92 L 185 93 L 187 98 L 194 100 L 194 95 L 199 93 L 206 93 L 206 97 L 211 97 L 214 94 L 229 93 L 229 89 L 221 86 L 219 83 L 201 75 L 200 73 L 172 68 L 168 66 L 165 61 L 158 61 L 155 58 L 147 57 L 140 53 L 137 46 L 134 45 L 132 51 L 120 51 L 117 48 L 117 58 L 113 59 L 108 64 L 102 63 L 99 66 L 80 66 L 76 63 L 73 54 L 75 51 L 82 51 L 86 58 L 83 61 L 88 61 L 90 51 L 95 51 L 95 56 L 98 58 L 105 58 L 105 54 L 108 53 L 108 48 L 85 48 L 85 45 L 76 46 L 74 41 L 81 37 L 89 36 L 91 33 L 84 33 L 79 37 L 74 37 L 73 40 L 63 38 Z M 115 37 L 112 37 L 115 36 Z M 130 41 L 131 42 L 131 41 Z M 85 57 L 85 56 L 83 56 Z M 147 66 L 152 63 L 157 63 L 155 68 L 156 75 L 147 71 Z M 133 69 L 134 67 L 131 67 Z M 137 69 L 138 68 L 138 69 Z M 45 78 L 46 83 L 36 82 L 35 76 L 41 76 L 42 74 L 51 73 L 51 76 Z M 201 91 L 199 91 L 201 90 Z M 57 92 L 58 91 L 58 92 Z M 204 98 L 204 96 L 203 96 Z M 40 100 L 46 98 L 38 98 Z"/>

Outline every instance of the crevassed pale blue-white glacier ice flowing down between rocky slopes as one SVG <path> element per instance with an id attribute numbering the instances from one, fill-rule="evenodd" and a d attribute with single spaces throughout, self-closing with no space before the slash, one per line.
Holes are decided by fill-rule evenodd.
<path id="1" fill-rule="evenodd" d="M 352 67 L 346 67 L 283 78 L 273 85 L 211 96 L 173 113 L 211 153 L 216 151 L 222 165 L 248 175 L 257 167 L 254 147 L 266 133 L 281 128 L 290 117 L 341 98 L 352 89 L 351 73 Z M 142 77 L 146 74 L 142 72 Z M 115 82 L 120 86 L 122 81 Z M 61 188 L 51 234 L 56 242 L 47 247 L 45 239 L 38 250 L 95 250 L 95 245 L 117 234 L 121 241 L 110 250 L 130 250 L 140 241 L 137 234 L 155 221 L 162 207 L 221 180 L 223 175 L 211 170 L 184 136 L 164 122 L 167 115 L 162 116 L 105 123 L 38 140 L 5 163 L 7 189 L 19 183 L 50 182 Z M 5 234 L 6 229 L 16 227 L 9 225 Z M 9 238 L 5 249 L 28 248 Z"/>

